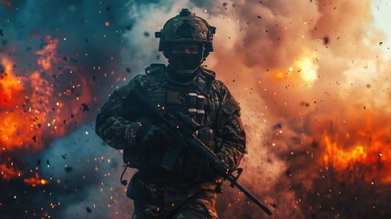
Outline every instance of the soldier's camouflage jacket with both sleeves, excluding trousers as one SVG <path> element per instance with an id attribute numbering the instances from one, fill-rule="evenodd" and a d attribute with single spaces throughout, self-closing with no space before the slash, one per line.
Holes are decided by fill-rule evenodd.
<path id="1" fill-rule="evenodd" d="M 240 119 L 240 107 L 227 87 L 214 78 L 214 72 L 205 68 L 200 68 L 198 77 L 192 83 L 186 86 L 179 85 L 170 80 L 164 65 L 157 64 L 146 68 L 145 75 L 138 75 L 126 86 L 115 90 L 98 110 L 96 132 L 111 147 L 124 149 L 124 162 L 132 166 L 132 160 L 130 159 L 129 162 L 128 158 L 130 153 L 130 157 L 143 157 L 147 160 L 151 157 L 149 161 L 153 161 L 143 160 L 141 164 L 134 164 L 133 167 L 138 169 L 145 169 L 145 167 L 148 169 L 148 166 L 159 167 L 159 156 L 167 149 L 167 147 L 159 147 L 157 151 L 140 150 L 143 147 L 138 145 L 136 139 L 143 118 L 139 118 L 129 110 L 129 107 L 137 108 L 132 105 L 131 99 L 128 99 L 132 89 L 141 89 L 153 102 L 187 114 L 190 110 L 187 106 L 190 93 L 203 95 L 206 100 L 202 107 L 204 114 L 201 123 L 206 127 L 204 130 L 213 133 L 205 143 L 219 153 L 223 162 L 227 163 L 232 170 L 239 165 L 245 152 L 245 131 Z M 220 143 L 216 144 L 216 141 Z M 189 156 L 189 151 L 183 156 Z"/>

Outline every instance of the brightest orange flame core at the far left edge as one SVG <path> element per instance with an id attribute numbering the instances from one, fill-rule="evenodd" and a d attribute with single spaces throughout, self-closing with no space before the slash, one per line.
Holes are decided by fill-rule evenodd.
<path id="1" fill-rule="evenodd" d="M 7 104 L 3 105 L 0 112 L 0 143 L 3 149 L 12 149 L 15 147 L 35 145 L 37 149 L 43 146 L 39 141 L 42 135 L 41 123 L 46 122 L 45 107 L 49 103 L 51 93 L 41 91 L 46 89 L 46 83 L 42 83 L 46 79 L 38 78 L 38 74 L 34 73 L 30 78 L 15 79 L 13 72 L 7 70 L 12 64 L 8 61 L 5 66 L 7 77 L 0 80 L 0 83 L 8 90 Z M 31 87 L 30 82 L 35 90 L 26 95 L 24 98 L 21 94 L 22 88 Z M 42 86 L 42 87 L 38 87 Z M 48 86 L 48 88 L 50 88 Z M 3 89 L 4 90 L 4 89 Z M 14 97 L 18 97 L 15 98 Z M 47 110 L 46 110 L 47 111 Z"/>

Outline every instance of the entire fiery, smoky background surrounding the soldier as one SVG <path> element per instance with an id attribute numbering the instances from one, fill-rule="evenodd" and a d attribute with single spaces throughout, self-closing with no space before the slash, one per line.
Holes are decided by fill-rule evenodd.
<path id="1" fill-rule="evenodd" d="M 129 217 L 121 154 L 93 121 L 113 89 L 165 61 L 153 32 L 190 7 L 217 26 L 206 64 L 241 102 L 240 182 L 272 218 L 389 218 L 391 5 L 180 4 L 0 1 L 2 215 Z M 228 184 L 219 199 L 221 218 L 266 218 Z"/>

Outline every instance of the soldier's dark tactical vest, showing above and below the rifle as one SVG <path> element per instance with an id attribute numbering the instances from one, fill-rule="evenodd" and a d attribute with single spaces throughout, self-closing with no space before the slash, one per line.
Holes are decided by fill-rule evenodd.
<path id="1" fill-rule="evenodd" d="M 149 99 L 161 109 L 181 112 L 196 120 L 201 125 L 201 129 L 197 130 L 199 139 L 214 151 L 212 126 L 218 107 L 214 106 L 216 103 L 209 99 L 213 80 L 214 72 L 201 69 L 193 83 L 183 86 L 167 78 L 165 65 L 151 64 L 146 68 L 141 87 Z M 167 145 L 167 148 L 157 147 L 154 151 L 134 147 L 124 151 L 124 162 L 133 168 L 163 165 L 166 169 L 170 169 L 180 156 L 186 156 L 187 151 L 178 150 L 181 149 L 170 145 Z"/>

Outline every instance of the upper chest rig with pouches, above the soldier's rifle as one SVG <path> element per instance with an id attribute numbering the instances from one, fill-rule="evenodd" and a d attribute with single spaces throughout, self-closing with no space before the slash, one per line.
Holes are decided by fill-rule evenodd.
<path id="1" fill-rule="evenodd" d="M 163 64 L 151 64 L 146 68 L 149 81 L 147 93 L 149 99 L 165 110 L 183 113 L 201 125 L 197 131 L 198 138 L 214 150 L 214 130 L 212 122 L 215 117 L 214 105 L 210 99 L 214 72 L 200 69 L 199 75 L 191 83 L 183 85 L 170 81 L 166 76 Z"/>

